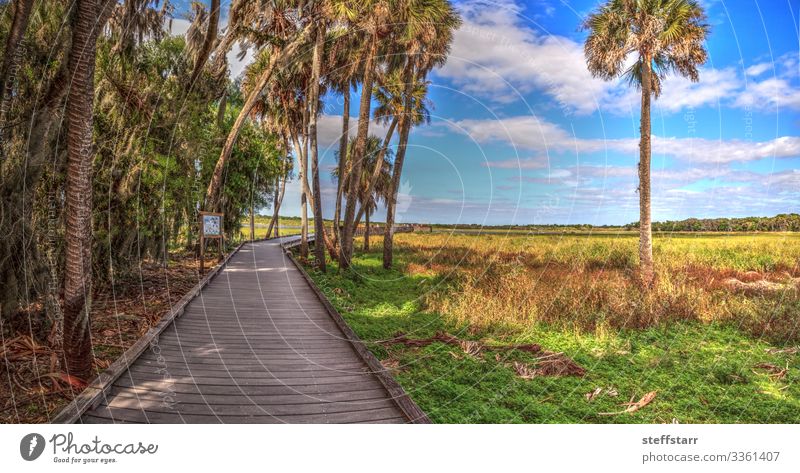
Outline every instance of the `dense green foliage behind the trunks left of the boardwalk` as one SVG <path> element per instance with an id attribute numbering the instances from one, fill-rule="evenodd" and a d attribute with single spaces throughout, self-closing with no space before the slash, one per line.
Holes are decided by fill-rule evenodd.
<path id="1" fill-rule="evenodd" d="M 170 249 L 195 250 L 205 189 L 242 106 L 239 85 L 212 67 L 201 68 L 187 89 L 196 64 L 187 44 L 191 35 L 169 35 L 168 4 L 92 3 L 86 7 L 95 12 L 89 21 L 102 27 L 90 27 L 94 33 L 83 40 L 96 41 L 88 91 L 71 81 L 86 61 L 70 55 L 80 22 L 66 0 L 34 2 L 15 61 L 4 68 L 13 74 L 3 77 L 8 100 L 0 125 L 2 316 L 13 326 L 20 306 L 43 300 L 43 321 L 36 325 L 52 329 L 56 338 L 72 258 L 67 246 L 77 240 L 67 229 L 80 230 L 81 224 L 68 225 L 75 205 L 89 205 L 91 216 L 90 248 L 82 245 L 91 269 L 78 268 L 88 278 L 79 284 L 82 293 L 134 270 L 142 259 L 167 263 Z M 13 15 L 0 18 L 3 44 L 12 22 Z M 71 97 L 89 98 L 91 112 L 68 115 Z M 68 179 L 73 142 L 67 138 L 84 118 L 91 190 L 80 190 L 68 213 L 67 197 L 76 188 Z M 231 238 L 250 208 L 270 204 L 277 178 L 289 170 L 283 146 L 260 120 L 242 127 L 232 154 L 220 199 Z"/>

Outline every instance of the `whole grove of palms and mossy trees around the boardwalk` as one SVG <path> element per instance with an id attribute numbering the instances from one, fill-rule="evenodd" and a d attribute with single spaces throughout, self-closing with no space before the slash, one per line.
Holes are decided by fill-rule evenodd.
<path id="1" fill-rule="evenodd" d="M 13 326 L 21 307 L 43 301 L 37 325 L 63 347 L 65 371 L 92 375 L 93 286 L 144 259 L 168 264 L 171 251 L 196 252 L 200 211 L 223 212 L 230 240 L 243 217 L 274 202 L 267 233 L 277 231 L 295 159 L 303 256 L 310 211 L 312 262 L 325 270 L 327 246 L 347 268 L 355 228 L 381 198 L 391 265 L 409 132 L 427 121 L 426 75 L 444 63 L 460 24 L 448 0 L 234 0 L 221 31 L 221 2 L 193 2 L 182 36 L 168 31 L 168 0 L 0 6 L 2 317 Z M 256 58 L 241 81 L 227 64 L 237 44 Z M 329 92 L 349 104 L 358 88 L 359 123 L 342 153 L 346 175 L 328 235 L 317 120 Z M 391 124 L 390 133 L 370 141 L 372 119 Z M 349 106 L 340 149 L 348 120 Z"/>

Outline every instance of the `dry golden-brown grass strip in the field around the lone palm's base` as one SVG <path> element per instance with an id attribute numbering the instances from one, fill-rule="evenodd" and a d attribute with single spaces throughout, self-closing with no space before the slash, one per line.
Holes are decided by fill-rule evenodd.
<path id="1" fill-rule="evenodd" d="M 592 331 L 726 321 L 779 342 L 800 339 L 799 244 L 785 234 L 657 237 L 658 283 L 645 290 L 632 236 L 397 236 L 408 273 L 450 283 L 428 294 L 429 309 L 466 325 Z M 731 278 L 772 289 L 735 290 Z"/>

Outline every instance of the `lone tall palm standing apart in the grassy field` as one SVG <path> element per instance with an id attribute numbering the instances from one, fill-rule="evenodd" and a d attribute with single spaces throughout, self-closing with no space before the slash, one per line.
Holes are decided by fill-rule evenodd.
<path id="1" fill-rule="evenodd" d="M 605 80 L 625 77 L 642 92 L 639 141 L 639 264 L 642 283 L 655 280 L 650 218 L 650 97 L 670 72 L 699 80 L 707 58 L 703 8 L 694 0 L 612 0 L 590 14 L 584 53 L 589 71 Z M 629 54 L 636 61 L 624 69 Z"/>

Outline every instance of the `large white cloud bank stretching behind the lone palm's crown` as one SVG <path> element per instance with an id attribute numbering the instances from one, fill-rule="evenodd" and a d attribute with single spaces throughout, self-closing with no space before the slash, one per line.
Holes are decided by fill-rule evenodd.
<path id="1" fill-rule="evenodd" d="M 532 27 L 514 0 L 470 0 L 460 5 L 464 23 L 456 32 L 451 54 L 439 77 L 450 80 L 467 94 L 495 103 L 519 102 L 534 91 L 552 97 L 565 114 L 587 115 L 598 108 L 615 114 L 638 109 L 640 92 L 624 80 L 602 81 L 586 67 L 583 44 L 547 35 Z M 628 62 L 632 56 L 628 58 Z M 800 108 L 800 90 L 789 80 L 797 75 L 791 54 L 773 63 L 760 63 L 740 72 L 733 67 L 704 68 L 700 81 L 671 75 L 655 106 L 677 112 L 702 106 L 770 106 Z M 744 75 L 756 78 L 770 68 L 777 78 L 746 84 Z"/>

